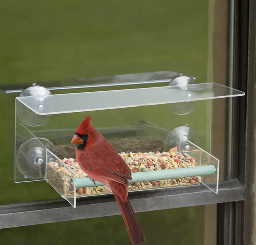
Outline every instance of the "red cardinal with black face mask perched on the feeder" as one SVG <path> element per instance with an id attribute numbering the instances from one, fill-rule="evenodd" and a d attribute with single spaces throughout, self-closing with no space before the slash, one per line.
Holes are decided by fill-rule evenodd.
<path id="1" fill-rule="evenodd" d="M 71 143 L 76 146 L 76 160 L 92 179 L 106 184 L 112 190 L 134 245 L 146 241 L 128 199 L 127 185 L 131 171 L 114 147 L 91 124 L 91 115 L 76 129 Z"/>

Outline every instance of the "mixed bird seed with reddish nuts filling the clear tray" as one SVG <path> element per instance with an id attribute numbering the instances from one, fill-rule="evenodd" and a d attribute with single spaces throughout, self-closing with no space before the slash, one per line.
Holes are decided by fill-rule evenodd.
<path id="1" fill-rule="evenodd" d="M 178 148 L 174 147 L 168 152 L 122 152 L 119 153 L 119 155 L 129 166 L 131 172 L 134 173 L 197 166 L 195 159 L 191 158 L 187 153 L 177 152 Z M 88 175 L 80 168 L 78 162 L 76 162 L 76 159 L 64 158 L 62 161 L 64 164 L 59 160 L 56 160 L 55 162 L 48 162 L 46 167 L 46 179 L 56 191 L 58 191 L 65 198 L 68 198 L 74 196 L 74 189 L 70 184 L 70 180 L 71 178 L 74 178 L 74 175 L 66 166 L 75 172 L 76 178 L 83 178 L 87 177 Z M 171 186 L 186 186 L 192 184 L 200 184 L 200 181 L 200 176 L 193 176 L 169 180 L 135 182 L 128 184 L 128 191 Z M 77 197 L 107 193 L 111 193 L 111 190 L 108 186 L 91 186 L 87 188 L 76 189 Z"/>

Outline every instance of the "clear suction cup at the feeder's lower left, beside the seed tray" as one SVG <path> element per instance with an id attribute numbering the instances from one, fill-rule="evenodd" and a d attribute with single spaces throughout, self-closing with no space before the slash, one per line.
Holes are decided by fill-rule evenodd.
<path id="1" fill-rule="evenodd" d="M 16 166 L 25 178 L 45 178 L 46 148 L 53 146 L 45 138 L 30 138 L 23 142 L 16 154 Z"/>

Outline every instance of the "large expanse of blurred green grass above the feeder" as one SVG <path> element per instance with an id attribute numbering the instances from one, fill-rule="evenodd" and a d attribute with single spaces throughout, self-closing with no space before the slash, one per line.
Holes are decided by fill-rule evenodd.
<path id="1" fill-rule="evenodd" d="M 206 79 L 207 4 L 1 1 L 1 81 L 172 70 Z"/>

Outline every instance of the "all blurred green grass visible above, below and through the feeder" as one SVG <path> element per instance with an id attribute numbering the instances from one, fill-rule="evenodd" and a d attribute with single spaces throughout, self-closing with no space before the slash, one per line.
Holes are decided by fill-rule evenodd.
<path id="1" fill-rule="evenodd" d="M 2 0 L 0 84 L 164 70 L 192 75 L 203 83 L 207 77 L 207 19 L 207 2 L 200 0 Z M 9 178 L 5 98 L 0 95 L 0 204 L 59 198 L 46 182 L 14 184 Z M 93 120 L 94 126 L 102 127 L 146 118 L 167 129 L 189 122 L 206 144 L 207 109 L 206 103 L 200 103 L 187 116 L 176 116 L 164 105 L 144 107 L 143 111 L 118 109 L 95 112 Z M 14 115 L 14 108 L 8 108 L 8 113 Z M 51 128 L 76 128 L 83 117 L 81 113 L 75 119 L 61 115 L 49 123 Z M 8 124 L 12 138 L 13 122 Z M 193 208 L 140 213 L 138 217 L 146 244 L 195 244 Z M 102 239 L 106 244 L 129 244 L 121 216 L 4 229 L 0 237 L 10 244 L 101 244 Z"/>

